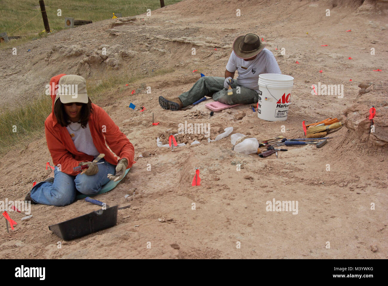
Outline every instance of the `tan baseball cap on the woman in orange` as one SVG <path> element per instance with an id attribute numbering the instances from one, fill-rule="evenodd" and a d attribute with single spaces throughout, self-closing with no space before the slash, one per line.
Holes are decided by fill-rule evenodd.
<path id="1" fill-rule="evenodd" d="M 88 103 L 89 98 L 86 91 L 86 80 L 82 76 L 68 74 L 62 76 L 58 82 L 58 93 L 55 101 L 59 98 L 62 103 L 81 102 Z"/>

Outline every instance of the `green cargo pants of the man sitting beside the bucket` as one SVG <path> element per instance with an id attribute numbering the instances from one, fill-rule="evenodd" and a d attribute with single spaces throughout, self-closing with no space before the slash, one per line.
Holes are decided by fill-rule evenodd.
<path id="1" fill-rule="evenodd" d="M 249 104 L 257 103 L 259 95 L 255 90 L 244 88 L 243 86 L 237 86 L 237 80 L 231 84 L 233 88 L 233 94 L 228 95 L 228 90 L 223 87 L 225 78 L 218 76 L 203 76 L 198 79 L 193 87 L 181 95 L 179 95 L 180 101 L 183 106 L 186 107 L 192 103 L 200 100 L 204 96 L 213 97 L 213 100 L 219 101 L 225 104 Z"/>

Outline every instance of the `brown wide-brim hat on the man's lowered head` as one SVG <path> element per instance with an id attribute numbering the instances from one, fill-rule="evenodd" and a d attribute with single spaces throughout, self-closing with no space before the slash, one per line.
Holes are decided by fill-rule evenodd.
<path id="1" fill-rule="evenodd" d="M 260 42 L 259 36 L 246 34 L 238 36 L 233 43 L 233 51 L 240 59 L 249 59 L 260 53 L 267 44 Z"/>

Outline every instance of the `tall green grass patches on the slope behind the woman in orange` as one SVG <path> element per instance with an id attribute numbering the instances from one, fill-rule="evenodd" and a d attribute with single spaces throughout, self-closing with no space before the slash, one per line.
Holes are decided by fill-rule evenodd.
<path id="1" fill-rule="evenodd" d="M 92 102 L 99 105 L 107 93 L 116 93 L 120 86 L 173 71 L 172 68 L 160 69 L 152 74 L 141 76 L 137 73 L 135 75 L 128 74 L 125 71 L 122 76 L 106 78 L 98 85 L 88 81 L 88 96 Z M 128 86 L 127 89 L 129 88 Z M 144 84 L 140 84 L 140 89 L 137 89 L 137 92 L 142 89 L 144 89 Z M 121 88 L 120 91 L 123 89 Z M 51 98 L 48 95 L 41 95 L 36 96 L 28 105 L 3 111 L 0 114 L 0 156 L 9 150 L 15 150 L 33 140 L 44 137 L 44 122 L 51 112 L 51 106 Z M 16 126 L 17 132 L 13 132 L 14 126 Z"/>

